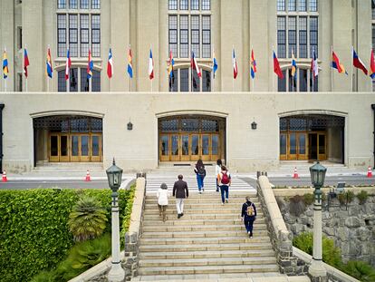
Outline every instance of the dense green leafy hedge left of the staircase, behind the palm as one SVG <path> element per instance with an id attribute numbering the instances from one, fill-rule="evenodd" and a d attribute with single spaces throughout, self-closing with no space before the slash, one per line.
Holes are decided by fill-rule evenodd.
<path id="1" fill-rule="evenodd" d="M 66 257 L 74 242 L 67 221 L 81 194 L 111 209 L 111 190 L 0 190 L 1 281 L 30 281 Z M 120 190 L 120 220 L 132 190 Z M 107 231 L 111 232 L 111 213 Z M 122 224 L 120 225 L 122 227 Z"/>

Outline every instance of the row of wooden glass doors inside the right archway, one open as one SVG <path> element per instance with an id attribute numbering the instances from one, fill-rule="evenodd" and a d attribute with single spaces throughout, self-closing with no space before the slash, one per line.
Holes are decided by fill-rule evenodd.
<path id="1" fill-rule="evenodd" d="M 326 160 L 325 132 L 281 132 L 280 160 Z"/>

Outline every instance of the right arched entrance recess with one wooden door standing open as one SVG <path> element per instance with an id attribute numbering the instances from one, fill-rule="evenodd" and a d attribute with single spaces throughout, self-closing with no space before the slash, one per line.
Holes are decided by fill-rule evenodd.
<path id="1" fill-rule="evenodd" d="M 344 161 L 345 118 L 301 114 L 280 118 L 280 160 Z"/>

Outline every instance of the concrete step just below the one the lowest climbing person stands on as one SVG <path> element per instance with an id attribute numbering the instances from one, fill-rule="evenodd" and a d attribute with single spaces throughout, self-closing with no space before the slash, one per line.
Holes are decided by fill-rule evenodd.
<path id="1" fill-rule="evenodd" d="M 215 252 L 217 250 L 220 251 L 250 251 L 250 250 L 270 250 L 272 249 L 272 245 L 269 241 L 264 242 L 252 242 L 251 244 L 248 243 L 218 243 L 218 244 L 194 244 L 189 245 L 186 243 L 182 244 L 175 244 L 175 245 L 140 245 L 139 251 L 140 254 L 142 252 L 160 252 L 161 254 L 168 253 L 168 252 L 192 252 L 192 251 L 209 251 Z"/>

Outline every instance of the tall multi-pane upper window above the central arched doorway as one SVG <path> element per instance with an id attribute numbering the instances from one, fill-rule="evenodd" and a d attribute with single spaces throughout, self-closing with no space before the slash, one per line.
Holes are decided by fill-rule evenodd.
<path id="1" fill-rule="evenodd" d="M 210 0 L 168 1 L 168 44 L 176 58 L 211 57 L 210 8 Z"/>

